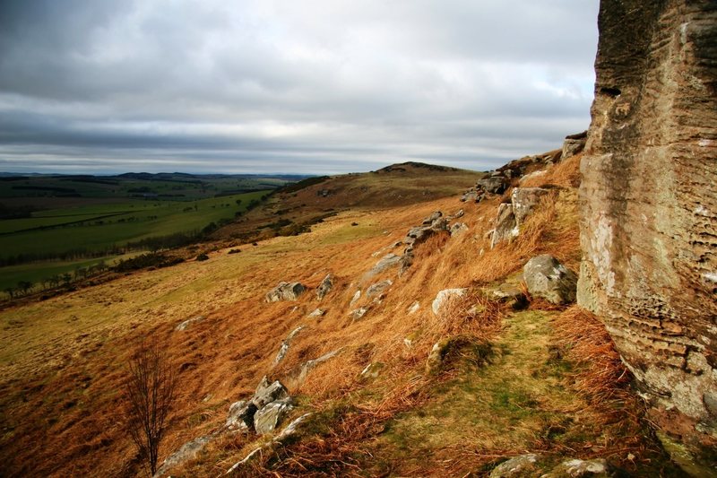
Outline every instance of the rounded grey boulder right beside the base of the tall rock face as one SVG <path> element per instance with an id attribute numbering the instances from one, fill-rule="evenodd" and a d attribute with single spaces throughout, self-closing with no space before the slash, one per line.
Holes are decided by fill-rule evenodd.
<path id="1" fill-rule="evenodd" d="M 554 304 L 575 300 L 577 274 L 548 254 L 535 256 L 523 266 L 523 280 L 533 296 Z"/>

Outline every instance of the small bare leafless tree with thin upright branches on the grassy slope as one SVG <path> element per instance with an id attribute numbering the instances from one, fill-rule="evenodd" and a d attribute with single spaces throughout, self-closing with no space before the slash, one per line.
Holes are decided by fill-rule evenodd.
<path id="1" fill-rule="evenodd" d="M 157 473 L 160 441 L 175 396 L 176 376 L 157 343 L 146 344 L 129 362 L 125 382 L 127 428 L 151 475 Z"/>

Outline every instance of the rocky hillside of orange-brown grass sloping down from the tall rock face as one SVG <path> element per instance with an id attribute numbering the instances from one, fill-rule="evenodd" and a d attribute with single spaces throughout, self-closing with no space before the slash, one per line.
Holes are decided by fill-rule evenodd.
<path id="1" fill-rule="evenodd" d="M 333 213 L 309 233 L 234 254 L 237 246 L 220 248 L 231 239 L 220 239 L 203 262 L 4 310 L 0 472 L 142 474 L 120 389 L 124 364 L 150 338 L 179 378 L 160 460 L 209 437 L 162 470 L 172 476 L 230 468 L 241 476 L 481 476 L 529 452 L 531 470 L 556 475 L 571 459 L 678 475 L 646 430 L 600 322 L 531 296 L 523 282 L 523 265 L 540 254 L 573 271 L 579 265 L 579 161 L 555 152 L 515 161 L 481 181 L 508 189 L 474 190 L 479 202 L 460 200 L 483 176 L 464 171 L 398 165 L 328 178 L 268 204 L 294 221 Z M 521 170 L 532 172 L 522 183 Z M 542 188 L 519 235 L 491 248 L 499 211 L 516 188 L 530 187 Z M 275 214 L 281 209 L 289 212 Z M 268 217 L 252 214 L 247 223 Z M 327 274 L 333 288 L 319 300 Z M 307 291 L 267 303 L 282 281 Z M 439 292 L 456 288 L 462 296 L 434 311 Z M 187 319 L 196 320 L 176 330 Z M 282 343 L 288 352 L 277 363 Z M 277 430 L 304 417 L 281 442 L 224 426 L 229 405 L 251 397 L 264 376 L 293 397 Z"/>

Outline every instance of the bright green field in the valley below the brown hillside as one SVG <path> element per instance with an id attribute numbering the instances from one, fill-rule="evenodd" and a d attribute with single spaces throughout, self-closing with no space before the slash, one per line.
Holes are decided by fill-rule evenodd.
<path id="1" fill-rule="evenodd" d="M 210 223 L 229 222 L 269 191 L 211 197 L 191 202 L 127 201 L 91 204 L 32 213 L 32 217 L 0 221 L 0 260 L 18 256 L 37 260 L 0 267 L 0 291 L 20 281 L 39 283 L 120 254 L 112 249 L 128 243 L 173 234 L 195 235 Z M 59 260 L 74 252 L 71 260 Z M 121 254 L 128 251 L 122 250 Z M 98 256 L 91 258 L 91 256 Z M 24 261 L 27 262 L 27 261 Z"/>

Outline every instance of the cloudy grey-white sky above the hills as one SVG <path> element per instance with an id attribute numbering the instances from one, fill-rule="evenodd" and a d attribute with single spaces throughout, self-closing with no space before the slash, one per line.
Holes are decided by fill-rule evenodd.
<path id="1" fill-rule="evenodd" d="M 3 0 L 0 171 L 493 169 L 590 124 L 598 0 Z"/>

